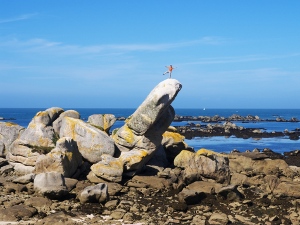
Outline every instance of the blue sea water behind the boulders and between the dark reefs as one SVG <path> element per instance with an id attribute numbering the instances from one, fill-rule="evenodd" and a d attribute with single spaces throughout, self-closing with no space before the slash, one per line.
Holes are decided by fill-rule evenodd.
<path id="1" fill-rule="evenodd" d="M 69 108 L 64 108 L 68 110 Z M 93 114 L 113 114 L 116 117 L 130 116 L 136 109 L 133 108 L 72 108 L 79 112 L 81 119 L 87 121 L 88 117 Z M 31 119 L 39 111 L 44 111 L 45 108 L 0 108 L 0 118 L 6 120 L 0 121 L 11 121 L 19 124 L 20 126 L 27 127 Z M 275 120 L 278 117 L 290 120 L 291 118 L 297 118 L 300 120 L 300 109 L 183 109 L 175 108 L 176 115 L 180 116 L 223 116 L 229 117 L 233 114 L 240 116 L 259 116 L 263 120 Z M 200 123 L 205 125 L 204 122 L 200 121 L 182 121 L 173 122 L 172 126 L 187 125 L 190 122 Z M 300 129 L 300 122 L 234 122 L 238 126 L 245 128 L 264 128 L 267 132 L 281 131 L 284 130 L 293 131 Z M 116 121 L 111 130 L 123 126 L 124 121 Z M 216 152 L 229 153 L 233 149 L 237 149 L 241 152 L 255 148 L 263 150 L 269 148 L 274 152 L 283 154 L 293 150 L 300 149 L 300 140 L 290 140 L 288 137 L 276 137 L 276 138 L 236 138 L 235 136 L 230 137 L 195 137 L 193 139 L 185 139 L 185 142 L 195 149 L 195 151 L 206 148 Z"/>

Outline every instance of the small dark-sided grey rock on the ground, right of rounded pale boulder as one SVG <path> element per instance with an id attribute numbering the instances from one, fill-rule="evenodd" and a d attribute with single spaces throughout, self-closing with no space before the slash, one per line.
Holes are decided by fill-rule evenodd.
<path id="1" fill-rule="evenodd" d="M 78 196 L 81 203 L 103 203 L 109 198 L 107 185 L 100 183 L 86 187 Z"/>

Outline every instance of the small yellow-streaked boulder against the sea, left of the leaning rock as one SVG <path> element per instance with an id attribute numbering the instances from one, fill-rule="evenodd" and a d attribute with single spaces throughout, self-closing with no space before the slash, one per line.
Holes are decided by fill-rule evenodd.
<path id="1" fill-rule="evenodd" d="M 116 120 L 117 118 L 113 114 L 94 114 L 89 116 L 87 122 L 109 133 L 110 128 L 114 125 Z"/>

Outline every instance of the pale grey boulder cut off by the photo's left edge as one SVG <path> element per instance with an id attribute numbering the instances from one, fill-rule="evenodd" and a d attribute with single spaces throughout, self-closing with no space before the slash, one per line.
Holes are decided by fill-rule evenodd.
<path id="1" fill-rule="evenodd" d="M 15 123 L 0 122 L 0 157 L 6 156 L 9 146 L 22 134 L 24 129 Z"/>

